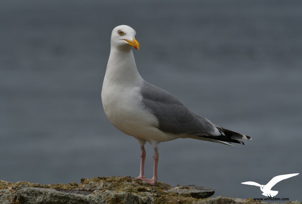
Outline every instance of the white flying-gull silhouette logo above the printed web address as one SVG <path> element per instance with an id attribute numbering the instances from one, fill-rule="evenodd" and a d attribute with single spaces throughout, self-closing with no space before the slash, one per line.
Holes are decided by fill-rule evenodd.
<path id="1" fill-rule="evenodd" d="M 262 195 L 267 196 L 267 197 L 274 197 L 278 194 L 278 191 L 271 190 L 271 188 L 273 186 L 275 186 L 276 183 L 280 182 L 281 180 L 288 179 L 288 178 L 293 177 L 293 176 L 297 176 L 298 174 L 299 173 L 297 173 L 297 174 L 284 174 L 284 175 L 275 176 L 266 185 L 261 185 L 259 183 L 253 182 L 253 181 L 243 182 L 242 184 L 252 185 L 252 186 L 259 186 L 260 190 L 263 192 Z"/>

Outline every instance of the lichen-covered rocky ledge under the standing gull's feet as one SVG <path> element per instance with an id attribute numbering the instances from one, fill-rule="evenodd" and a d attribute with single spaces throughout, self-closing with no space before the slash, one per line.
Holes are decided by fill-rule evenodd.
<path id="1" fill-rule="evenodd" d="M 257 203 L 250 199 L 218 196 L 214 190 L 196 185 L 172 187 L 166 183 L 150 186 L 132 177 L 97 177 L 81 183 L 41 185 L 0 180 L 0 203 Z M 264 203 L 264 202 L 258 202 Z M 301 204 L 299 201 L 288 202 Z"/>

